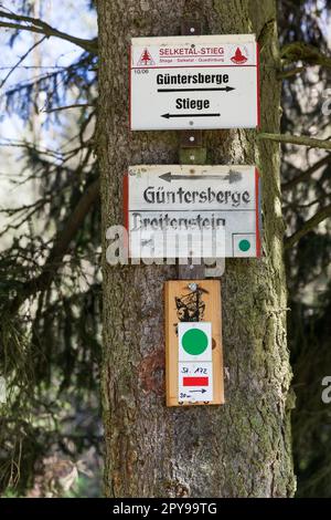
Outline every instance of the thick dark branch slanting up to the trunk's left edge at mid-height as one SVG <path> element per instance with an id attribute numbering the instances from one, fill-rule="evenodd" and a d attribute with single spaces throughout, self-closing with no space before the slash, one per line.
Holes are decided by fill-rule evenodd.
<path id="1" fill-rule="evenodd" d="M 47 289 L 53 280 L 57 269 L 61 267 L 64 254 L 66 253 L 71 241 L 83 225 L 86 215 L 95 204 L 99 196 L 99 179 L 95 180 L 82 195 L 73 214 L 68 217 L 62 231 L 55 237 L 54 246 L 49 258 L 43 266 L 41 274 L 24 283 L 20 293 L 13 299 L 9 305 L 9 312 L 15 314 L 24 301 L 33 297 L 38 291 Z"/>

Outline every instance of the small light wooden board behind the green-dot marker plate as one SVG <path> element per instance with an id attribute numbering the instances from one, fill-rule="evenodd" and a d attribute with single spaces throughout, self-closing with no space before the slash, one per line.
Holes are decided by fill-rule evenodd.
<path id="1" fill-rule="evenodd" d="M 192 284 L 196 284 L 195 291 Z M 220 280 L 168 281 L 166 282 L 164 298 L 167 406 L 224 404 Z M 179 399 L 179 322 L 209 322 L 212 324 L 212 401 L 181 402 Z M 199 398 L 203 397 L 199 396 Z"/>

